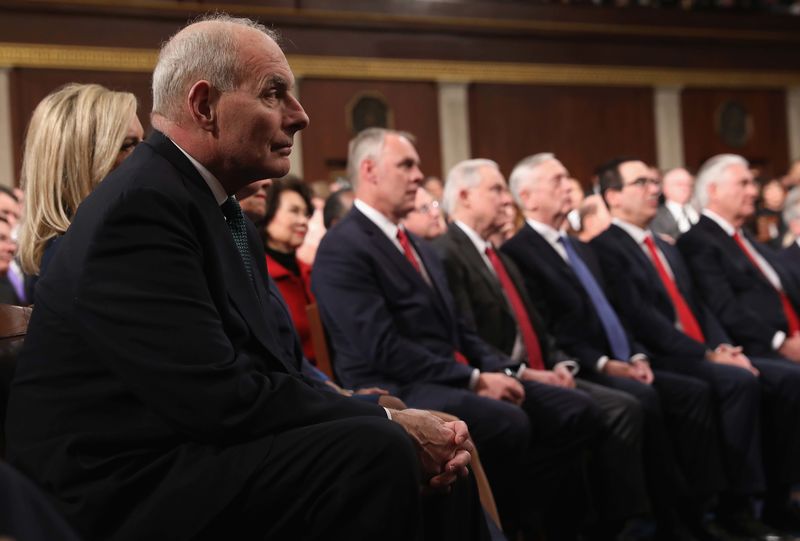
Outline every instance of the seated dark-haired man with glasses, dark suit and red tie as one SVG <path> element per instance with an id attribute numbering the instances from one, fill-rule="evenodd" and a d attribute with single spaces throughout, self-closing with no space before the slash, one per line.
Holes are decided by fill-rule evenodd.
<path id="1" fill-rule="evenodd" d="M 800 371 L 786 362 L 748 359 L 700 301 L 680 253 L 647 231 L 659 195 L 658 179 L 640 160 L 613 160 L 598 171 L 612 225 L 592 241 L 614 304 L 634 336 L 664 370 L 702 379 L 714 391 L 719 411 L 728 491 L 721 521 L 733 529 L 770 535 L 746 512 L 749 497 L 764 488 L 761 459 L 761 400 L 765 418 L 776 418 L 777 434 L 765 447 L 793 478 L 791 462 L 800 452 Z M 752 362 L 751 362 L 752 361 Z M 762 392 L 758 386 L 761 383 Z M 772 439 L 770 439 L 772 436 Z M 786 485 L 783 484 L 785 499 Z M 743 513 L 742 510 L 745 512 Z M 734 524 L 739 522 L 740 524 Z"/>

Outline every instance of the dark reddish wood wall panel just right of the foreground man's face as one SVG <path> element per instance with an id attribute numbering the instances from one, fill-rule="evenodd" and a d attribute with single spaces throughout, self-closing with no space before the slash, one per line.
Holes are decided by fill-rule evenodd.
<path id="1" fill-rule="evenodd" d="M 303 79 L 300 103 L 311 118 L 303 131 L 303 173 L 306 180 L 332 180 L 344 169 L 347 143 L 353 137 L 347 106 L 362 93 L 377 93 L 388 102 L 394 125 L 417 138 L 417 150 L 426 174 L 441 170 L 438 94 L 434 83 L 394 81 L 334 81 Z"/>

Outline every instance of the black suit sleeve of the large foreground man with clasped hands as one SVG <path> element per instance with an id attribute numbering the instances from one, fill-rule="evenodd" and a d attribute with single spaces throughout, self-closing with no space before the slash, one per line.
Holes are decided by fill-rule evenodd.
<path id="1" fill-rule="evenodd" d="M 140 189 L 111 205 L 90 239 L 76 324 L 136 399 L 189 438 L 228 443 L 385 415 L 269 371 L 279 361 L 265 348 L 231 342 L 220 315 L 232 309 L 227 293 L 210 282 L 221 274 L 207 227 L 190 199 Z"/>

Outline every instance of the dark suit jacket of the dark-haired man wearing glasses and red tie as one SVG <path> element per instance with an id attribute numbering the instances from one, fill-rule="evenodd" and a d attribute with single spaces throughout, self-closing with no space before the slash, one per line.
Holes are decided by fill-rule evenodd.
<path id="1" fill-rule="evenodd" d="M 678 290 L 703 329 L 706 344 L 675 327 L 677 314 L 658 271 L 631 236 L 612 224 L 592 241 L 612 300 L 625 326 L 655 355 L 702 359 L 706 346 L 716 347 L 727 336 L 713 314 L 695 295 L 689 270 L 678 250 L 654 236 L 672 270 Z"/>

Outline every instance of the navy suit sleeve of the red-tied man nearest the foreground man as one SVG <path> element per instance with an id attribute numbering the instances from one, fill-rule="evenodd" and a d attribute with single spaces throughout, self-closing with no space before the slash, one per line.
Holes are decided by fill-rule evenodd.
<path id="1" fill-rule="evenodd" d="M 342 225 L 322 239 L 311 279 L 337 356 L 369 363 L 372 371 L 400 384 L 466 387 L 472 368 L 398 332 L 379 283 L 379 262 L 342 234 Z"/>

